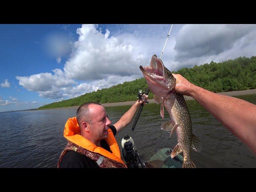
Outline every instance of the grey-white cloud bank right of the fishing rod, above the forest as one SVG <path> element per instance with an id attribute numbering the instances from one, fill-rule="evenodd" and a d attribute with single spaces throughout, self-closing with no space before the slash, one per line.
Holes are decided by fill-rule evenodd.
<path id="1" fill-rule="evenodd" d="M 255 55 L 255 24 L 184 25 L 174 46 L 175 69 Z"/>

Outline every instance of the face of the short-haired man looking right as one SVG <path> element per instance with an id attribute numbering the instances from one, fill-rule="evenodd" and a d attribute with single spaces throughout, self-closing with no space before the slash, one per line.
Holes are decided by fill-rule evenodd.
<path id="1" fill-rule="evenodd" d="M 91 135 L 96 141 L 107 138 L 111 121 L 108 119 L 105 108 L 95 104 L 92 104 L 89 108 L 92 122 L 89 124 Z"/>

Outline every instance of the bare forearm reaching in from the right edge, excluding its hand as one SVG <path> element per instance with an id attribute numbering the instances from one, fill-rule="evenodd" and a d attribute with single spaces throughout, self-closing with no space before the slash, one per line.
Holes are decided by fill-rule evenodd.
<path id="1" fill-rule="evenodd" d="M 256 105 L 198 86 L 194 86 L 189 94 L 256 153 Z"/>

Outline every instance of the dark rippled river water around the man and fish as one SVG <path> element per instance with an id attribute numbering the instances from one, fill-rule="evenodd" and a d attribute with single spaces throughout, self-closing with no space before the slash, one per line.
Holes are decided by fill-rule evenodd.
<path id="1" fill-rule="evenodd" d="M 255 94 L 237 97 L 256 104 Z M 194 100 L 189 102 L 193 104 Z M 106 107 L 112 124 L 129 108 Z M 201 153 L 192 151 L 192 159 L 198 168 L 256 168 L 256 155 L 209 112 L 197 102 L 188 108 L 193 133 L 203 144 Z M 0 168 L 56 168 L 66 145 L 64 125 L 75 115 L 74 109 L 0 113 Z M 131 131 L 132 121 L 116 136 L 119 148 L 122 149 L 121 140 L 125 134 L 134 139 L 142 162 L 149 160 L 160 148 L 174 148 L 176 134 L 169 138 L 170 134 L 160 129 L 161 124 L 168 120 L 166 110 L 164 119 L 161 118 L 160 105 L 147 104 L 134 131 Z"/>

